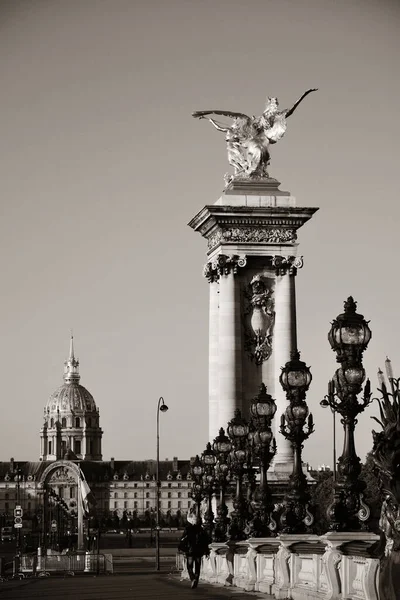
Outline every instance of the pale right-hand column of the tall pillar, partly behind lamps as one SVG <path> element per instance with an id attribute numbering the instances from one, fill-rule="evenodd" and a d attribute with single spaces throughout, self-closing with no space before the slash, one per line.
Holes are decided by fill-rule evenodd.
<path id="1" fill-rule="evenodd" d="M 281 468 L 285 473 L 291 473 L 293 467 L 293 451 L 291 444 L 279 431 L 281 415 L 288 406 L 286 393 L 279 384 L 281 367 L 290 360 L 291 353 L 297 349 L 297 323 L 296 323 L 296 291 L 295 275 L 297 268 L 303 265 L 302 258 L 294 256 L 273 258 L 276 267 L 275 283 L 275 330 L 273 339 L 273 360 L 275 399 L 277 411 L 275 415 L 275 439 L 277 453 L 274 458 L 274 471 Z M 281 467 L 279 466 L 281 465 Z"/>

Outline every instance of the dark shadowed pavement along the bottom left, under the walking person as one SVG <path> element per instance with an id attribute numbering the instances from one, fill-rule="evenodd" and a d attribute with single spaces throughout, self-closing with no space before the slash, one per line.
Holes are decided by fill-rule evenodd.
<path id="1" fill-rule="evenodd" d="M 130 575 L 40 577 L 0 583 L 0 600 L 269 600 L 272 596 L 200 581 L 171 573 L 136 572 Z"/>

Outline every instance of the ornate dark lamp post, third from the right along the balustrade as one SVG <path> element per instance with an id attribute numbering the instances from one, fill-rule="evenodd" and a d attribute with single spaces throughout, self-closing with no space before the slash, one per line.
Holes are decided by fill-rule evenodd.
<path id="1" fill-rule="evenodd" d="M 273 503 L 271 491 L 267 482 L 267 471 L 272 458 L 276 453 L 276 442 L 271 430 L 271 422 L 276 413 L 275 400 L 267 393 L 267 388 L 262 383 L 260 391 L 250 404 L 252 417 L 252 431 L 249 440 L 255 457 L 260 462 L 260 486 L 256 493 L 254 505 L 256 506 L 251 534 L 266 536 L 271 534 L 271 514 Z"/>

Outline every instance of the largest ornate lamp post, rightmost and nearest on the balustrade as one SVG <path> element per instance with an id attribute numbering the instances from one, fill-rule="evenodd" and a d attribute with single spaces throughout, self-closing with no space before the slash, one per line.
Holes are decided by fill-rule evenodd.
<path id="1" fill-rule="evenodd" d="M 362 355 L 371 339 L 371 330 L 363 315 L 356 312 L 357 304 L 350 296 L 344 303 L 344 313 L 332 323 L 328 340 L 341 364 L 329 382 L 328 405 L 341 416 L 344 427 L 343 453 L 338 460 L 334 499 L 328 508 L 330 529 L 357 530 L 369 517 L 370 510 L 363 502 L 365 484 L 359 481 L 360 459 L 354 444 L 357 416 L 371 402 L 371 386 L 367 380 L 361 402 L 357 396 L 362 391 L 365 370 Z"/>

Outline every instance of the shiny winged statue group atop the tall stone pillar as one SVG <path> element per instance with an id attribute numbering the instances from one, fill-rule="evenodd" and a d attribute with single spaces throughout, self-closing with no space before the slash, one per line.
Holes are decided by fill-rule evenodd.
<path id="1" fill-rule="evenodd" d="M 317 89 L 307 90 L 292 108 L 283 110 L 279 109 L 277 98 L 268 97 L 261 117 L 249 117 L 243 113 L 229 110 L 200 110 L 192 113 L 196 119 L 207 118 L 215 129 L 226 134 L 228 162 L 234 169 L 234 175 L 227 179 L 227 183 L 236 177 L 269 177 L 267 169 L 270 162 L 270 144 L 276 144 L 282 139 L 286 132 L 288 117 L 294 113 L 308 94 L 316 92 Z M 231 125 L 220 123 L 214 118 L 214 115 L 230 117 Z"/>

